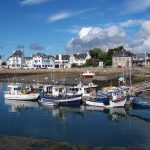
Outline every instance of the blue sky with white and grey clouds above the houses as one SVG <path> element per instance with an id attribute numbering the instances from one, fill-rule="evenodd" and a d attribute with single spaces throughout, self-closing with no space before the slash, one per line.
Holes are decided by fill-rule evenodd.
<path id="1" fill-rule="evenodd" d="M 150 0 L 0 0 L 0 51 L 150 50 Z"/>

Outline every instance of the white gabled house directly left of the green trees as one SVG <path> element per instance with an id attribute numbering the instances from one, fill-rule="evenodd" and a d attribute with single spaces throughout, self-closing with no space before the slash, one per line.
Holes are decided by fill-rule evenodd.
<path id="1" fill-rule="evenodd" d="M 77 54 L 72 54 L 71 56 L 70 56 L 70 61 L 69 61 L 69 63 L 72 65 L 72 64 L 77 64 L 77 65 L 79 65 L 79 66 L 81 66 L 81 65 L 84 65 L 85 63 L 86 63 L 86 61 L 88 60 L 88 59 L 90 59 L 91 58 L 91 56 L 90 56 L 90 54 L 89 54 L 89 52 L 87 52 L 87 53 L 77 53 Z"/>

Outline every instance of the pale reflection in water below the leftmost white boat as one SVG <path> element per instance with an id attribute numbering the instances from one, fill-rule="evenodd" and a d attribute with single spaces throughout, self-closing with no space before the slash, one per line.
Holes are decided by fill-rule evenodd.
<path id="1" fill-rule="evenodd" d="M 5 105 L 9 106 L 9 112 L 19 112 L 21 110 L 39 107 L 35 101 L 18 101 L 18 100 L 4 100 Z"/>

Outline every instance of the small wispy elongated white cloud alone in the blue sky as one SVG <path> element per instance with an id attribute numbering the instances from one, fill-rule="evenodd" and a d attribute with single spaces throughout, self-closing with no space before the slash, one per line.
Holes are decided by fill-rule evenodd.
<path id="1" fill-rule="evenodd" d="M 58 20 L 62 20 L 62 19 L 66 19 L 68 17 L 71 17 L 71 12 L 61 12 L 61 13 L 57 13 L 55 15 L 52 15 L 48 18 L 48 22 L 55 22 Z"/>

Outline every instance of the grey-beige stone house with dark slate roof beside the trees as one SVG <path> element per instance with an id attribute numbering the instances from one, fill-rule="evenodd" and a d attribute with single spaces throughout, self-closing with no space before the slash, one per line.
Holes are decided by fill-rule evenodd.
<path id="1" fill-rule="evenodd" d="M 135 57 L 135 54 L 127 50 L 115 51 L 112 56 L 112 65 L 113 67 L 131 67 Z"/>

